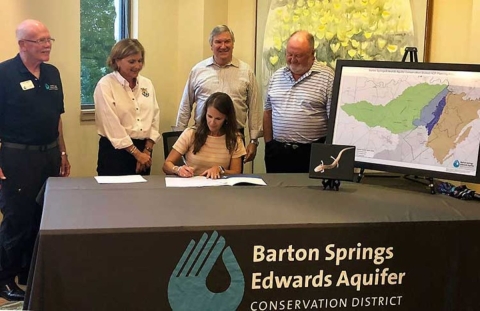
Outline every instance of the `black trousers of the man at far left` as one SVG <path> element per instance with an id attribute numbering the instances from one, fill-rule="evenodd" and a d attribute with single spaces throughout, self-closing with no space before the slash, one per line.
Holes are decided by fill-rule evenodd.
<path id="1" fill-rule="evenodd" d="M 49 150 L 21 150 L 4 144 L 0 149 L 0 282 L 28 273 L 42 206 L 36 201 L 48 177 L 59 176 L 58 146 Z"/>

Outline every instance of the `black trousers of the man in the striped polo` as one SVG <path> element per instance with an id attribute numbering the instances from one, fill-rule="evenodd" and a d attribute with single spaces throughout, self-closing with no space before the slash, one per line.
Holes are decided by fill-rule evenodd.
<path id="1" fill-rule="evenodd" d="M 315 141 L 325 142 L 325 137 Z M 265 144 L 267 173 L 308 173 L 311 144 L 282 143 L 272 139 Z"/>

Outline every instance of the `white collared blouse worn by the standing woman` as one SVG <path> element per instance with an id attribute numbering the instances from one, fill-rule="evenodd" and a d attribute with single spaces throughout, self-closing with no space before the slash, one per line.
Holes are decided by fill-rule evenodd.
<path id="1" fill-rule="evenodd" d="M 93 98 L 97 132 L 116 149 L 132 145 L 132 138 L 159 140 L 160 109 L 149 79 L 138 75 L 132 90 L 120 73 L 109 73 L 98 81 Z"/>

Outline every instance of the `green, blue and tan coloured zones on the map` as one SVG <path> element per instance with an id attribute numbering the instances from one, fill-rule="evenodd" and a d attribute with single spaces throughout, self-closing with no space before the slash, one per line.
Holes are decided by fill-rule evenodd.
<path id="1" fill-rule="evenodd" d="M 450 150 L 464 141 L 471 131 L 470 122 L 478 119 L 480 100 L 466 100 L 465 93 L 454 94 L 448 85 L 421 83 L 408 87 L 385 106 L 367 101 L 345 103 L 342 109 L 369 127 L 380 126 L 400 134 L 424 126 L 427 147 L 441 164 Z"/>

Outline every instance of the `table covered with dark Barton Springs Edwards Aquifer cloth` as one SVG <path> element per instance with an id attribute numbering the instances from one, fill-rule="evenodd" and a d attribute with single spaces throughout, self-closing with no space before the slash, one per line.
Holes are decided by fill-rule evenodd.
<path id="1" fill-rule="evenodd" d="M 24 307 L 480 310 L 478 202 L 401 178 L 335 192 L 307 174 L 261 177 L 268 186 L 49 179 Z"/>

